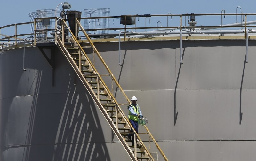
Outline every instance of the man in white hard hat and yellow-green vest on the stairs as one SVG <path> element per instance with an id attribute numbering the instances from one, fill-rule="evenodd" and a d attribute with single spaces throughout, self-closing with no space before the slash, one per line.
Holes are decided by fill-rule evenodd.
<path id="1" fill-rule="evenodd" d="M 138 134 L 138 130 L 139 130 L 139 125 L 138 125 L 138 117 L 143 118 L 141 111 L 140 111 L 140 106 L 138 104 L 136 104 L 137 102 L 137 98 L 135 96 L 133 96 L 131 98 L 132 104 L 130 104 L 127 108 L 129 110 L 129 121 L 132 124 L 132 127 L 134 128 L 134 130 L 136 131 L 136 133 Z M 132 129 L 130 130 L 132 131 Z M 134 145 L 134 134 L 128 134 L 128 139 L 131 140 L 131 136 L 132 136 L 132 146 Z"/>

